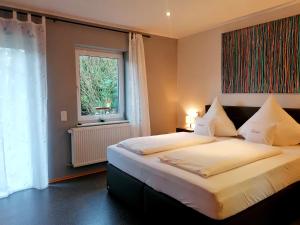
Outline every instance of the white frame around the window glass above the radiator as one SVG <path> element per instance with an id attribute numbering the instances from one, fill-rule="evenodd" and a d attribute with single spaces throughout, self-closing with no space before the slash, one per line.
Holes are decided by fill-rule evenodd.
<path id="1" fill-rule="evenodd" d="M 95 57 L 104 57 L 118 59 L 119 66 L 119 104 L 118 104 L 118 113 L 110 113 L 104 115 L 81 115 L 81 100 L 80 100 L 80 56 L 95 56 Z M 125 91 L 124 91 L 124 59 L 122 52 L 109 52 L 102 51 L 98 49 L 83 49 L 75 48 L 75 60 L 76 60 L 76 88 L 77 88 L 77 111 L 78 111 L 78 122 L 87 123 L 87 122 L 96 122 L 99 119 L 105 121 L 109 120 L 124 120 L 124 111 L 125 111 Z"/>

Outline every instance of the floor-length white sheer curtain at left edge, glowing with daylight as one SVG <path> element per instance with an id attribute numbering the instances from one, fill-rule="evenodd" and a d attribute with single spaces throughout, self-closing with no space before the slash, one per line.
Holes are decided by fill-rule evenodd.
<path id="1" fill-rule="evenodd" d="M 0 198 L 48 186 L 45 18 L 0 18 Z"/>

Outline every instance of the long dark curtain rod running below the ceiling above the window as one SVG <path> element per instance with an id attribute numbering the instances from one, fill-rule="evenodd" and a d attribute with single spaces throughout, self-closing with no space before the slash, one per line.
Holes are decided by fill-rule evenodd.
<path id="1" fill-rule="evenodd" d="M 110 27 L 110 26 L 105 26 L 105 25 L 100 25 L 100 24 L 90 23 L 90 22 L 84 22 L 84 21 L 80 21 L 80 20 L 76 20 L 76 19 L 67 18 L 67 17 L 55 16 L 55 15 L 51 15 L 51 14 L 40 13 L 40 12 L 35 12 L 35 11 L 30 11 L 30 10 L 24 10 L 24 9 L 20 9 L 20 8 L 13 8 L 13 7 L 0 5 L 0 10 L 8 11 L 8 12 L 17 11 L 19 13 L 30 13 L 33 16 L 40 16 L 40 17 L 44 16 L 44 17 L 46 17 L 46 19 L 53 20 L 54 22 L 59 21 L 59 22 L 76 24 L 76 25 L 98 28 L 98 29 L 103 29 L 103 30 L 109 30 L 109 31 L 114 31 L 114 32 L 119 32 L 119 33 L 125 33 L 125 34 L 128 34 L 130 32 L 138 33 L 138 34 L 143 35 L 143 37 L 151 38 L 151 36 L 149 34 L 137 32 L 137 31 L 133 31 L 133 30 L 115 28 L 115 27 Z"/>

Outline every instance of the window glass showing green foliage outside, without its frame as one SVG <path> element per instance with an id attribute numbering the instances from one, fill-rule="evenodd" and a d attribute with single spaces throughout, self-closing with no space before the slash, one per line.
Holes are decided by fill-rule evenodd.
<path id="1" fill-rule="evenodd" d="M 118 59 L 80 56 L 81 115 L 118 113 Z"/>

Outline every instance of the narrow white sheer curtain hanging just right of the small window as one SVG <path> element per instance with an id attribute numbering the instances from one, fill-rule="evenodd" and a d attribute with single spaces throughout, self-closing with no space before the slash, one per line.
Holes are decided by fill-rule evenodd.
<path id="1" fill-rule="evenodd" d="M 144 43 L 141 34 L 129 34 L 126 112 L 135 137 L 151 134 Z"/>

